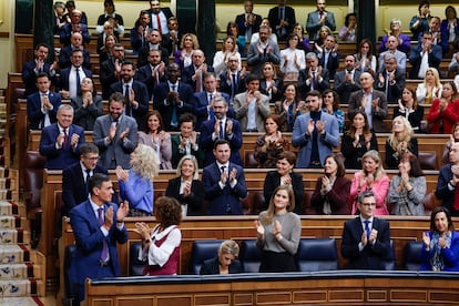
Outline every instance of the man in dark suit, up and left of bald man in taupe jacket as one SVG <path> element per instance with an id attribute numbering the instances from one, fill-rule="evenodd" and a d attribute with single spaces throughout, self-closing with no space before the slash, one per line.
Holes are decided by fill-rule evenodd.
<path id="1" fill-rule="evenodd" d="M 356 58 L 347 55 L 345 58 L 345 69 L 335 74 L 334 90 L 339 94 L 341 103 L 348 103 L 350 93 L 360 89 L 360 70 L 356 69 Z"/>

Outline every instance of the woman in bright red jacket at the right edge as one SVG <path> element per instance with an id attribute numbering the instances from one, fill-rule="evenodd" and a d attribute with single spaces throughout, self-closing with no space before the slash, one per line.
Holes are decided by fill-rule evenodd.
<path id="1" fill-rule="evenodd" d="M 429 133 L 443 134 L 452 130 L 452 125 L 459 121 L 458 90 L 452 81 L 443 85 L 441 98 L 434 100 L 430 106 L 427 122 Z"/>

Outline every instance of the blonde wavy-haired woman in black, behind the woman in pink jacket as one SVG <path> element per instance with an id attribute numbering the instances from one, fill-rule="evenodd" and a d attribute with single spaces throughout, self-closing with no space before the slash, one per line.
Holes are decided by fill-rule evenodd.
<path id="1" fill-rule="evenodd" d="M 392 120 L 392 131 L 386 141 L 386 166 L 397 169 L 405 153 L 418 156 L 418 139 L 412 136 L 409 121 L 399 115 Z"/>

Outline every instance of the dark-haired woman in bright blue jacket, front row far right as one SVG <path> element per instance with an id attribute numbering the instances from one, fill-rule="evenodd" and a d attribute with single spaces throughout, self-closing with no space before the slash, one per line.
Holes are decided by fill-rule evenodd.
<path id="1" fill-rule="evenodd" d="M 421 271 L 459 271 L 459 233 L 451 213 L 437 206 L 430 215 L 430 231 L 422 233 Z"/>

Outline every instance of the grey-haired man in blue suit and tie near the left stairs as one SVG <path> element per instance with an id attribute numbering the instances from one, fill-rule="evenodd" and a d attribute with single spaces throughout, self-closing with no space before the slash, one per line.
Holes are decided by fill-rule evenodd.
<path id="1" fill-rule="evenodd" d="M 44 167 L 63 170 L 78 162 L 80 145 L 84 143 L 84 130 L 72 124 L 73 108 L 62 104 L 58 109 L 58 122 L 41 131 L 40 154 L 47 157 Z"/>

